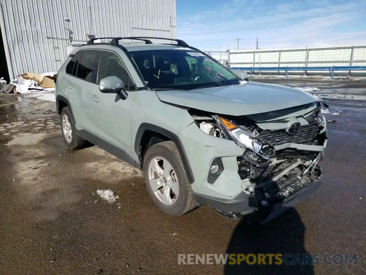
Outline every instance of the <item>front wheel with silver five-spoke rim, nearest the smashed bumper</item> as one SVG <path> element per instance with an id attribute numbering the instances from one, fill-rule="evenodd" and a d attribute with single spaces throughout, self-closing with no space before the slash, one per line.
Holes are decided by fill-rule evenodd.
<path id="1" fill-rule="evenodd" d="M 157 143 L 146 151 L 143 176 L 150 197 L 164 213 L 180 216 L 195 208 L 191 184 L 174 142 Z"/>

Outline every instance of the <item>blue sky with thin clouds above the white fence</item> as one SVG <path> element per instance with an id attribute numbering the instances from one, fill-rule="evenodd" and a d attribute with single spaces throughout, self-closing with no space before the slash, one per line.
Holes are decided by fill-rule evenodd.
<path id="1" fill-rule="evenodd" d="M 366 43 L 366 0 L 176 0 L 177 38 L 204 51 Z"/>

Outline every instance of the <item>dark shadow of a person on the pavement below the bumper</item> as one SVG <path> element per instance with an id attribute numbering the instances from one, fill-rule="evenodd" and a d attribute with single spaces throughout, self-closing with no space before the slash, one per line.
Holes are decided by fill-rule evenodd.
<path id="1" fill-rule="evenodd" d="M 312 264 L 288 264 L 288 261 L 294 260 L 295 254 L 308 253 L 304 247 L 305 225 L 302 223 L 299 213 L 290 208 L 277 219 L 269 221 L 259 227 L 249 227 L 245 221 L 241 221 L 235 228 L 231 240 L 227 247 L 227 254 L 254 254 L 257 261 L 253 264 L 253 257 L 249 257 L 248 264 L 245 260 L 240 264 L 230 264 L 230 258 L 224 266 L 224 275 L 235 274 L 281 274 L 294 275 L 306 274 L 313 275 L 314 268 Z M 292 257 L 286 257 L 285 264 L 272 257 L 272 264 L 269 263 L 269 257 L 265 257 L 258 264 L 258 254 L 282 254 L 282 257 L 291 253 Z M 236 257 L 237 258 L 237 257 Z M 294 261 L 295 263 L 295 261 Z"/>

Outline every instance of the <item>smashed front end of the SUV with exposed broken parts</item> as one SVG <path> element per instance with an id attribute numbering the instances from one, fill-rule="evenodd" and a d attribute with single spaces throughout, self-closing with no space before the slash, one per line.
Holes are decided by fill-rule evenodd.
<path id="1" fill-rule="evenodd" d="M 242 193 L 254 197 L 257 203 L 239 212 L 214 209 L 217 213 L 234 219 L 252 216 L 258 219 L 259 216 L 263 220 L 273 211 L 273 206 L 295 197 L 300 190 L 321 179 L 318 162 L 328 136 L 321 103 L 314 104 L 301 115 L 297 111 L 292 116 L 289 110 L 288 115 L 262 121 L 188 110 L 203 132 L 232 140 L 244 149 L 237 157 Z M 214 172 L 220 172 L 220 163 L 212 164 L 209 182 L 214 181 Z"/>

